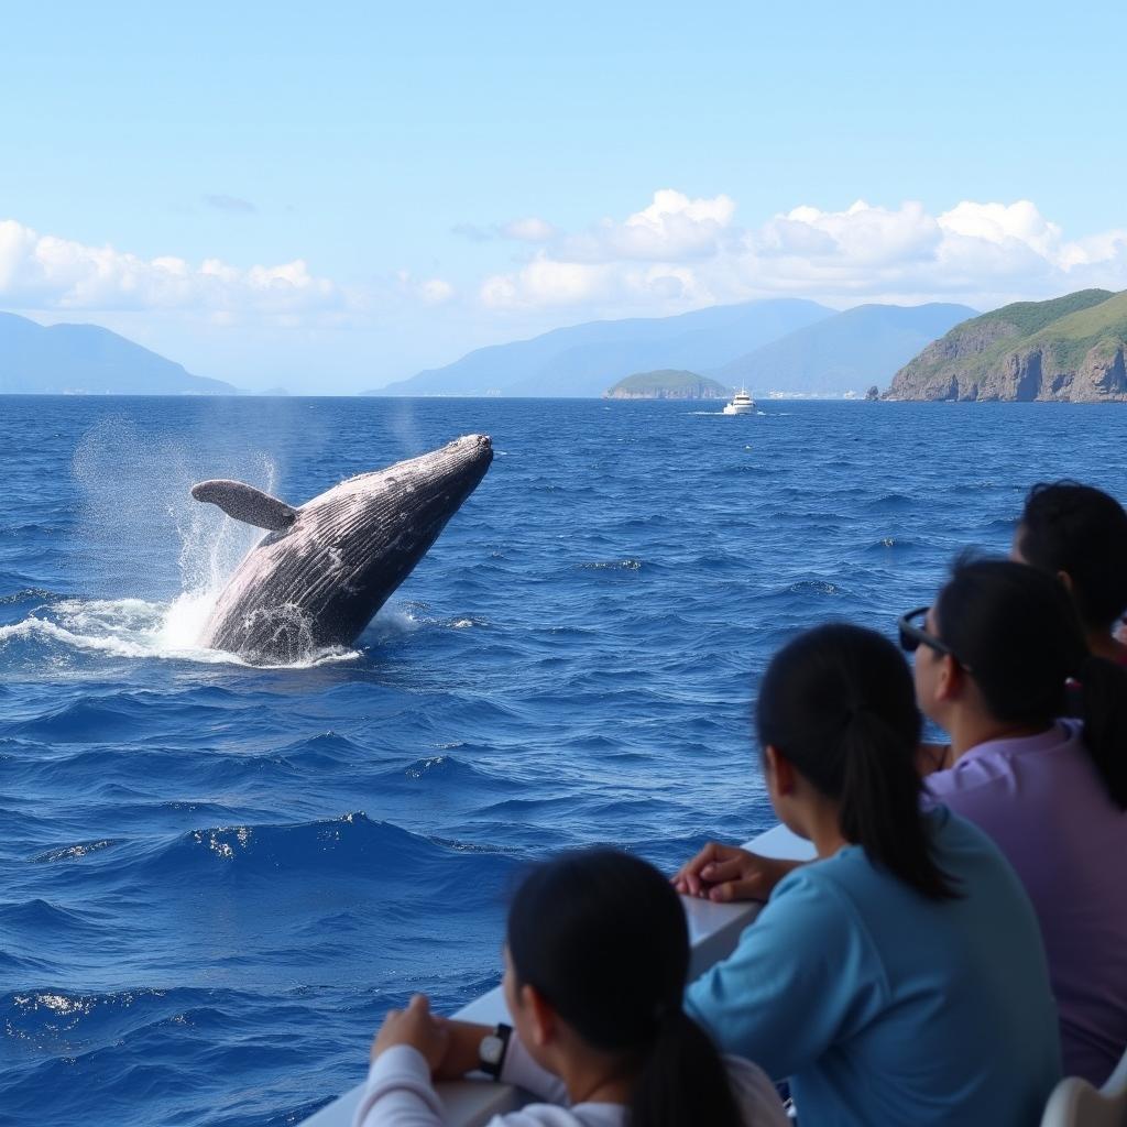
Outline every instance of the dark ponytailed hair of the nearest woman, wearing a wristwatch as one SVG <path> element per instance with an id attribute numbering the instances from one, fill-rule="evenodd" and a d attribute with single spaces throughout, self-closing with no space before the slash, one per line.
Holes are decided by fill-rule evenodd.
<path id="1" fill-rule="evenodd" d="M 739 1127 L 716 1046 L 684 1012 L 689 928 L 668 880 L 615 850 L 565 853 L 525 878 L 508 956 L 593 1048 L 639 1067 L 630 1127 Z"/>

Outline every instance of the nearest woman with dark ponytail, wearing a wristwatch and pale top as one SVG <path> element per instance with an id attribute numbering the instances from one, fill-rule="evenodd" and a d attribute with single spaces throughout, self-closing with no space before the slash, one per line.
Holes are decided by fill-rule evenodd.
<path id="1" fill-rule="evenodd" d="M 547 1103 L 489 1127 L 786 1127 L 753 1064 L 721 1058 L 685 1013 L 689 931 L 651 866 L 613 850 L 534 869 L 509 908 L 513 1028 L 447 1021 L 415 997 L 372 1046 L 356 1127 L 437 1127 L 431 1082 L 485 1067 Z"/>

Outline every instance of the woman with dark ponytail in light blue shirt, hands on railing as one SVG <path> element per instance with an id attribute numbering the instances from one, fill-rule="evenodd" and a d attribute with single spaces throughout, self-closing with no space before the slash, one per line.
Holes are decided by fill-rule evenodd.
<path id="1" fill-rule="evenodd" d="M 710 845 L 674 878 L 770 894 L 686 1012 L 788 1079 L 813 1127 L 1027 1127 L 1061 1077 L 1036 916 L 997 848 L 920 809 L 921 718 L 891 642 L 831 624 L 772 660 L 758 734 L 780 819 L 817 860 Z"/>

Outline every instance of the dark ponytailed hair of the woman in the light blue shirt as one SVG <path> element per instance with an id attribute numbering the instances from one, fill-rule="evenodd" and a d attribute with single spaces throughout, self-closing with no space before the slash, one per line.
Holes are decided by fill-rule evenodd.
<path id="1" fill-rule="evenodd" d="M 841 832 L 917 893 L 955 895 L 920 810 L 922 720 L 912 673 L 887 638 L 846 623 L 799 635 L 760 686 L 760 743 L 841 806 Z"/>

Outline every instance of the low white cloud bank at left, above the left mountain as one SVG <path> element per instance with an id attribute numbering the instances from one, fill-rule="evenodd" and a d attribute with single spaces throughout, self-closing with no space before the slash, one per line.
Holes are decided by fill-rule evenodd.
<path id="1" fill-rule="evenodd" d="M 0 303 L 27 310 L 184 310 L 293 316 L 340 309 L 343 291 L 302 259 L 237 267 L 145 259 L 0 221 Z"/>

